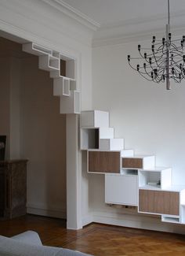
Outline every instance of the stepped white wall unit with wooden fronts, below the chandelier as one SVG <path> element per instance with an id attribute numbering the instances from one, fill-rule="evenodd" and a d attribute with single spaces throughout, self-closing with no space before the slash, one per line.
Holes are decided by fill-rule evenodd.
<path id="1" fill-rule="evenodd" d="M 172 186 L 172 169 L 155 166 L 155 156 L 135 155 L 114 138 L 109 113 L 81 113 L 81 150 L 87 150 L 88 173 L 104 174 L 105 202 L 137 206 L 139 213 L 185 224 L 185 186 Z"/>

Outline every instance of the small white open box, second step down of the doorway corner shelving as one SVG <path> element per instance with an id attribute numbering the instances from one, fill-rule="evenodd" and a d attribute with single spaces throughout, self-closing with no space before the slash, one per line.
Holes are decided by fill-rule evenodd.
<path id="1" fill-rule="evenodd" d="M 60 62 L 59 58 L 53 57 L 52 55 L 42 55 L 38 59 L 39 69 L 44 69 L 46 71 L 59 70 Z"/>

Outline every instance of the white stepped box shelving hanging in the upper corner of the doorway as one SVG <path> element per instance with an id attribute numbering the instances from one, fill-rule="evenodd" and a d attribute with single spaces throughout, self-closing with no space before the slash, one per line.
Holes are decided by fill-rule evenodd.
<path id="1" fill-rule="evenodd" d="M 50 72 L 53 95 L 60 97 L 60 113 L 80 113 L 80 92 L 76 87 L 74 58 L 36 43 L 24 43 L 23 50 L 37 55 L 39 69 Z"/>

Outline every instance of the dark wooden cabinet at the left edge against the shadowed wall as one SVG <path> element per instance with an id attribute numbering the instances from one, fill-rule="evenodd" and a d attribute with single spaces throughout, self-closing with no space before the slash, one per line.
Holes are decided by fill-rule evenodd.
<path id="1" fill-rule="evenodd" d="M 26 214 L 27 160 L 0 161 L 0 217 Z"/>

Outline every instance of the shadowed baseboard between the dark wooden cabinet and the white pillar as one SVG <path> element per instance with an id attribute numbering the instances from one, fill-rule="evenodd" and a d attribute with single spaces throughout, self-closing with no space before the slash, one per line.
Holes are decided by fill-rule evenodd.
<path id="1" fill-rule="evenodd" d="M 27 204 L 27 213 L 61 219 L 67 218 L 66 209 L 64 208 L 47 207 L 38 204 Z"/>

